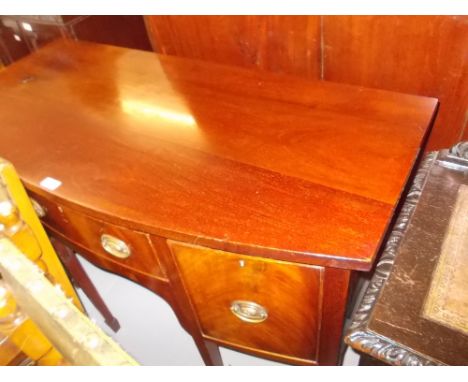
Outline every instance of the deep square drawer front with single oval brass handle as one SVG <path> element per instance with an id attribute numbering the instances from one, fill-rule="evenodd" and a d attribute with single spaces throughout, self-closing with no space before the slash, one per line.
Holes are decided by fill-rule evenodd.
<path id="1" fill-rule="evenodd" d="M 317 361 L 323 268 L 168 244 L 206 337 Z"/>

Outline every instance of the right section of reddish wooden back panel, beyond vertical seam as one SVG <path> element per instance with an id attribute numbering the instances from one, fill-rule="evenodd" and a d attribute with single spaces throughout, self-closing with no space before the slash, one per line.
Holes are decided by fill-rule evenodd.
<path id="1" fill-rule="evenodd" d="M 428 149 L 466 134 L 467 16 L 324 16 L 324 79 L 437 97 Z"/>

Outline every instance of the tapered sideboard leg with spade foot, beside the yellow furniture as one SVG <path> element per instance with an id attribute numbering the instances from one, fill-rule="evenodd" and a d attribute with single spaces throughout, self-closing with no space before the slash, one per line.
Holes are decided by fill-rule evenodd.
<path id="1" fill-rule="evenodd" d="M 117 332 L 120 329 L 119 321 L 112 315 L 80 261 L 76 257 L 75 252 L 55 238 L 51 238 L 51 242 L 60 257 L 60 260 L 70 274 L 70 277 L 75 281 L 78 287 L 83 290 L 96 309 L 102 314 L 106 324 L 114 332 Z"/>

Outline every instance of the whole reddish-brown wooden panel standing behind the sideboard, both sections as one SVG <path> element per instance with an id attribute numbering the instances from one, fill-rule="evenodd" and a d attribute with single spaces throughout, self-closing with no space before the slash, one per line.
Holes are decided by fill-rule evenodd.
<path id="1" fill-rule="evenodd" d="M 428 149 L 468 139 L 468 16 L 147 16 L 158 53 L 437 97 Z"/>

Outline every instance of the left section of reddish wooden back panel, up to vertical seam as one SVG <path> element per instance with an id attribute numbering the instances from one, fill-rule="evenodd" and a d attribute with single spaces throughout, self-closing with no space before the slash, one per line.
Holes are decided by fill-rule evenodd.
<path id="1" fill-rule="evenodd" d="M 320 78 L 320 16 L 145 16 L 158 53 Z"/>

